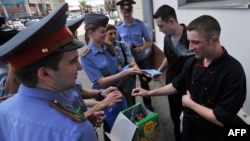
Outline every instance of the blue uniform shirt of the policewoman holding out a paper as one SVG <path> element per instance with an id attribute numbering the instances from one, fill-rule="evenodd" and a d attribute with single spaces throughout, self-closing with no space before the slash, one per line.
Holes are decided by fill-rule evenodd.
<path id="1" fill-rule="evenodd" d="M 105 89 L 97 83 L 101 77 L 118 73 L 118 59 L 112 56 L 106 45 L 103 44 L 103 51 L 99 51 L 92 43 L 88 44 L 90 52 L 81 56 L 81 65 L 92 83 L 93 89 Z M 117 86 L 114 82 L 112 86 Z"/>

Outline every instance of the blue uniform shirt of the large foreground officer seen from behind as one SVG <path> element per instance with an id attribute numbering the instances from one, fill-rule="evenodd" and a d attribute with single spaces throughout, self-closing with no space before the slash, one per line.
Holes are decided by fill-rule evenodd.
<path id="1" fill-rule="evenodd" d="M 0 103 L 0 140 L 98 141 L 88 120 L 73 121 L 50 106 L 53 99 L 70 104 L 56 92 L 21 85 L 17 94 Z"/>

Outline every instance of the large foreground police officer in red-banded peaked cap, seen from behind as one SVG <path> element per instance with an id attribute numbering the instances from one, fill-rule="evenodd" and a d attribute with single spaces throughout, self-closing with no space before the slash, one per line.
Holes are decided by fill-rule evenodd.
<path id="1" fill-rule="evenodd" d="M 0 103 L 0 140 L 98 141 L 93 125 L 59 93 L 75 86 L 81 70 L 76 40 L 65 26 L 68 4 L 0 46 L 16 70 L 18 93 Z"/>

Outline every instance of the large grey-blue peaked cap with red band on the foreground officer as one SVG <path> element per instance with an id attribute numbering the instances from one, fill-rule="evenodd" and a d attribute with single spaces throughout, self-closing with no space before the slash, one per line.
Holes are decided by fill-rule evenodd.
<path id="1" fill-rule="evenodd" d="M 14 68 L 30 65 L 54 52 L 71 51 L 84 44 L 74 39 L 65 26 L 68 4 L 62 3 L 49 15 L 0 46 L 0 59 Z"/>

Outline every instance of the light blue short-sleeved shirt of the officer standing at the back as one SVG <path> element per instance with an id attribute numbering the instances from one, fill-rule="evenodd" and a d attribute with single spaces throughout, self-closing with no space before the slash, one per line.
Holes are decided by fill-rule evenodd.
<path id="1" fill-rule="evenodd" d="M 117 25 L 117 40 L 124 41 L 129 45 L 142 46 L 145 41 L 152 40 L 150 34 L 140 20 L 133 19 L 131 25 L 127 25 L 124 21 Z M 139 53 L 133 53 L 135 60 L 142 60 L 146 57 L 145 50 L 142 50 Z"/>

